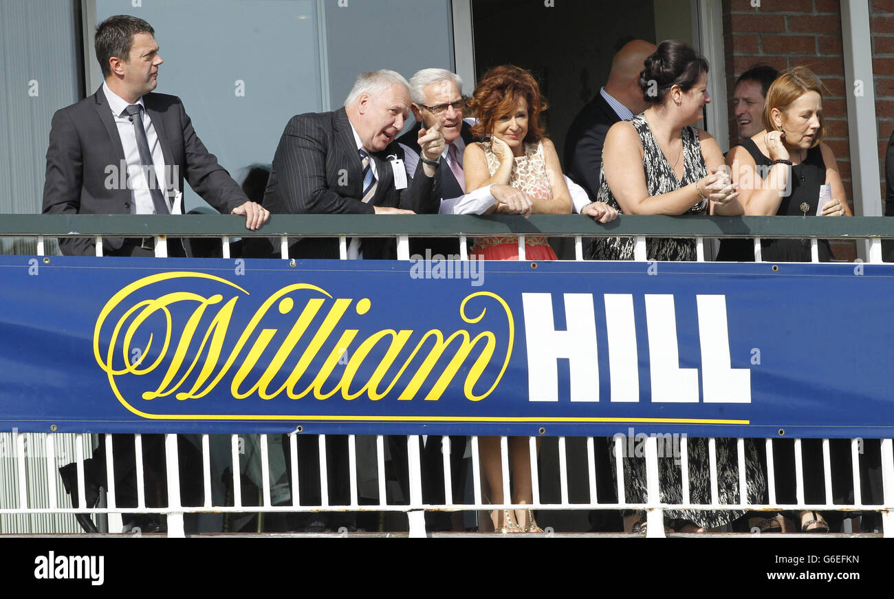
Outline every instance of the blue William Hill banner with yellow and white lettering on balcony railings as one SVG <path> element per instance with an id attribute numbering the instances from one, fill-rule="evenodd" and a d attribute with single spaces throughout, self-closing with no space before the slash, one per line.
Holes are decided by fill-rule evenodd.
<path id="1" fill-rule="evenodd" d="M 894 268 L 2 257 L 0 427 L 894 435 Z"/>

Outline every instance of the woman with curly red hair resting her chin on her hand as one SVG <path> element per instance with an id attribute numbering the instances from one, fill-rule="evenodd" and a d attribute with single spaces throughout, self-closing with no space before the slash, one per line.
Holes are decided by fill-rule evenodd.
<path id="1" fill-rule="evenodd" d="M 561 173 L 559 156 L 552 141 L 544 137 L 539 116 L 546 107 L 540 88 L 530 72 L 517 66 L 491 69 L 478 83 L 468 102 L 478 122 L 472 133 L 481 143 L 466 146 L 463 172 L 466 191 L 500 183 L 522 191 L 489 211 L 497 214 L 571 214 L 571 196 Z M 599 207 L 596 205 L 595 207 Z M 617 212 L 601 204 L 595 215 L 610 221 Z M 518 260 L 519 242 L 511 237 L 477 238 L 472 253 L 488 260 Z M 527 260 L 555 260 L 545 237 L 526 236 Z M 511 503 L 533 502 L 531 461 L 527 437 L 510 437 L 508 443 L 512 489 Z M 503 502 L 500 437 L 479 437 L 482 471 L 490 500 Z M 493 510 L 493 528 L 502 533 L 540 533 L 531 510 Z"/>

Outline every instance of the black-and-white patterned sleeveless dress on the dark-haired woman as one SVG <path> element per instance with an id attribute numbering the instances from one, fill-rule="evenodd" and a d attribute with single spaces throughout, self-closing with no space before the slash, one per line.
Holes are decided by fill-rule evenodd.
<path id="1" fill-rule="evenodd" d="M 678 181 L 671 165 L 664 157 L 658 142 L 643 114 L 637 114 L 629 121 L 637 129 L 640 142 L 643 144 L 643 168 L 645 181 L 650 196 L 679 190 L 702 177 L 708 171 L 704 165 L 698 132 L 692 127 L 685 127 L 683 138 L 683 180 Z M 606 202 L 621 212 L 618 201 L 611 194 L 605 182 L 605 170 L 599 175 L 599 193 L 597 199 Z M 701 200 L 690 207 L 687 215 L 704 215 L 708 202 Z M 632 260 L 634 240 L 630 237 L 596 238 L 588 251 L 589 259 Z M 646 255 L 649 259 L 684 261 L 696 259 L 696 242 L 687 239 L 646 238 Z M 607 315 L 611 317 L 611 315 Z M 659 441 L 661 441 L 659 439 Z M 614 460 L 614 440 L 609 439 L 611 460 Z M 689 465 L 689 501 L 693 503 L 711 502 L 710 460 L 708 457 L 707 439 L 688 439 L 687 455 Z M 721 503 L 738 503 L 738 454 L 735 439 L 717 439 L 717 477 L 718 500 Z M 664 453 L 666 455 L 667 452 Z M 757 443 L 752 439 L 745 441 L 746 492 L 748 502 L 765 502 L 763 467 Z M 625 497 L 628 502 L 645 501 L 645 459 L 638 457 L 623 458 L 625 470 Z M 662 503 L 680 503 L 682 498 L 682 473 L 679 457 L 660 457 L 658 459 L 659 488 Z M 614 473 L 614 468 L 612 468 Z M 629 514 L 632 512 L 626 512 Z M 745 515 L 741 510 L 664 510 L 669 519 L 684 519 L 695 522 L 700 527 L 713 528 L 727 524 Z"/>

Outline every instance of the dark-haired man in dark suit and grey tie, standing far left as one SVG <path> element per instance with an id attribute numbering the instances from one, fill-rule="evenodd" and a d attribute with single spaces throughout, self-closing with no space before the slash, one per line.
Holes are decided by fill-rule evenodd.
<path id="1" fill-rule="evenodd" d="M 56 112 L 46 150 L 45 214 L 182 214 L 183 179 L 202 198 L 225 213 L 246 216 L 246 227 L 257 229 L 269 213 L 250 202 L 239 185 L 217 164 L 196 132 L 180 98 L 150 93 L 156 89 L 158 55 L 155 31 L 148 22 L 129 15 L 109 17 L 97 27 L 97 60 L 105 82 L 97 92 Z M 91 238 L 60 240 L 66 255 L 92 256 Z M 184 255 L 178 244 L 168 248 Z M 154 238 L 105 238 L 105 256 L 153 256 Z M 164 437 L 144 434 L 144 472 L 149 507 L 166 504 Z M 113 435 L 114 479 L 118 507 L 136 507 L 136 460 L 132 435 Z M 193 464 L 196 449 L 181 438 L 181 466 Z M 199 460 L 200 463 L 200 460 Z M 105 441 L 85 460 L 85 503 L 98 502 L 106 486 Z M 60 468 L 72 504 L 78 506 L 76 466 Z M 183 501 L 198 505 L 195 487 L 182 485 Z M 200 490 L 198 491 L 200 493 Z M 96 532 L 87 514 L 81 527 Z M 131 517 L 125 527 L 143 532 L 163 527 L 158 519 Z"/>

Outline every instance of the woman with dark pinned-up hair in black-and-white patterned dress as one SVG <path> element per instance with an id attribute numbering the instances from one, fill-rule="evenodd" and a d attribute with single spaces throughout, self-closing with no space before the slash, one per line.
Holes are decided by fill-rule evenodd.
<path id="1" fill-rule="evenodd" d="M 703 116 L 708 64 L 680 41 L 664 41 L 646 58 L 639 84 L 649 104 L 643 114 L 616 123 L 605 138 L 603 170 L 597 200 L 621 214 L 638 215 L 741 215 L 736 186 L 724 164 L 717 142 L 690 126 Z M 632 260 L 634 239 L 598 238 L 587 257 Z M 646 257 L 651 260 L 695 260 L 691 239 L 647 238 Z M 719 501 L 738 503 L 738 467 L 735 440 L 718 439 L 717 477 Z M 691 439 L 688 445 L 690 501 L 708 503 L 711 498 L 708 443 Z M 765 484 L 756 445 L 746 442 L 746 480 L 749 502 L 761 502 Z M 645 499 L 645 460 L 624 460 L 626 498 Z M 662 503 L 681 502 L 679 460 L 659 459 Z M 700 531 L 719 527 L 745 512 L 735 510 L 665 510 L 671 527 Z M 627 530 L 645 530 L 641 512 L 625 514 Z"/>

